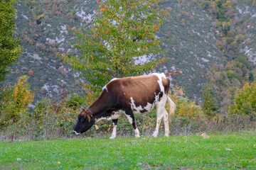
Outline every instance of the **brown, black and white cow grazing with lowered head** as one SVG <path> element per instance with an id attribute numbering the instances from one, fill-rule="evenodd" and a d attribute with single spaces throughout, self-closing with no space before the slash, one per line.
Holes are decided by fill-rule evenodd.
<path id="1" fill-rule="evenodd" d="M 80 135 L 89 130 L 94 123 L 107 119 L 112 120 L 114 125 L 110 137 L 114 139 L 117 134 L 117 120 L 124 113 L 132 124 L 134 137 L 140 137 L 134 115 L 149 113 L 156 108 L 156 130 L 152 136 L 157 137 L 161 120 L 164 118 L 164 135 L 169 137 L 169 117 L 174 115 L 176 109 L 168 96 L 169 87 L 170 80 L 164 73 L 112 79 L 103 87 L 99 98 L 89 108 L 81 109 L 73 133 Z M 167 100 L 170 106 L 169 114 L 165 109 Z"/>

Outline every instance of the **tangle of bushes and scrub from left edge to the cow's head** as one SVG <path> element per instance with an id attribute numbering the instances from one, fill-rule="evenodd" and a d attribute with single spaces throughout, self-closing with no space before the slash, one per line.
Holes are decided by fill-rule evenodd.
<path id="1" fill-rule="evenodd" d="M 5 88 L 1 94 L 0 128 L 11 140 L 18 137 L 27 139 L 47 139 L 48 137 L 71 134 L 77 121 L 80 105 L 85 98 L 78 94 L 68 96 L 66 91 L 59 98 L 42 98 L 33 111 L 28 111 L 28 103 L 33 101 L 26 77 Z M 3 132 L 4 132 L 3 131 Z"/>

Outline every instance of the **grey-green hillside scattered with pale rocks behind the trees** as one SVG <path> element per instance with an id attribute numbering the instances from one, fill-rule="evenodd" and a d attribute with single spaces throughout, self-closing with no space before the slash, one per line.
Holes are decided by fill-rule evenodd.
<path id="1" fill-rule="evenodd" d="M 247 38 L 241 52 L 256 58 L 256 8 L 239 1 L 235 7 L 238 18 L 247 17 Z M 220 38 L 213 28 L 214 17 L 200 7 L 198 1 L 165 1 L 163 8 L 172 8 L 157 36 L 168 40 L 162 46 L 167 50 L 166 63 L 157 72 L 181 70 L 171 77 L 171 84 L 184 86 L 189 98 L 201 100 L 202 86 L 208 82 L 206 73 L 213 64 L 224 64 L 225 55 L 216 45 Z M 23 40 L 23 54 L 14 64 L 4 84 L 14 84 L 21 75 L 28 75 L 28 82 L 36 91 L 36 101 L 43 97 L 55 98 L 62 88 L 82 91 L 82 82 L 68 64 L 63 63 L 56 52 L 73 50 L 73 30 L 90 25 L 97 1 L 37 0 L 18 1 L 16 34 Z M 241 25 L 242 26 L 242 25 Z M 158 56 L 159 58 L 164 56 Z"/>

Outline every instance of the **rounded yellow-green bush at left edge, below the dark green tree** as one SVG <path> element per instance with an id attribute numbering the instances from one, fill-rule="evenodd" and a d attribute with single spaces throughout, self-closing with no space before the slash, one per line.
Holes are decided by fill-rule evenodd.
<path id="1" fill-rule="evenodd" d="M 4 88 L 0 98 L 0 123 L 6 127 L 26 117 L 28 104 L 32 103 L 34 93 L 30 90 L 26 76 L 20 77 L 17 84 Z"/>

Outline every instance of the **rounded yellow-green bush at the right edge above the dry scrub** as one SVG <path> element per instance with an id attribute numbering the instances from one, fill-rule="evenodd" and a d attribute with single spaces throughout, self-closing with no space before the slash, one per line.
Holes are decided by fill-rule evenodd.
<path id="1" fill-rule="evenodd" d="M 235 103 L 229 108 L 230 114 L 256 117 L 256 81 L 246 83 L 235 95 Z"/>

